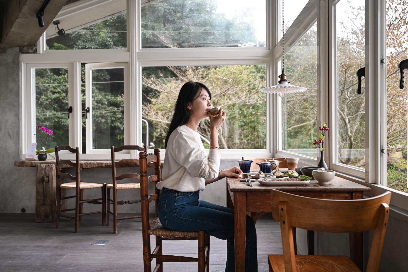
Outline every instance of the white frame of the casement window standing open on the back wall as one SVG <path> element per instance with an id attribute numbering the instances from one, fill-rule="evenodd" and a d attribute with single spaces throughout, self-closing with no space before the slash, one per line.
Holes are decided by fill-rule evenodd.
<path id="1" fill-rule="evenodd" d="M 130 115 L 130 90 L 129 90 L 129 81 L 126 80 L 129 78 L 129 63 L 128 62 L 99 62 L 99 63 L 87 63 L 85 65 L 85 108 L 89 107 L 90 113 L 88 118 L 85 120 L 86 127 L 86 154 L 106 154 L 106 150 L 109 149 L 93 149 L 93 108 L 92 108 L 92 71 L 100 69 L 114 69 L 114 68 L 123 68 L 123 93 L 124 93 L 124 124 L 129 124 L 129 115 Z M 124 145 L 129 145 L 130 136 L 129 126 L 124 126 Z M 122 153 L 129 153 L 124 150 Z M 109 150 L 110 152 L 110 150 Z"/>

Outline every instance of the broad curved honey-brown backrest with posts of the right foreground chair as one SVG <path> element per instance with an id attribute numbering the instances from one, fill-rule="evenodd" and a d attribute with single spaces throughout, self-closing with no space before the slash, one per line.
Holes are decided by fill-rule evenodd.
<path id="1" fill-rule="evenodd" d="M 367 272 L 377 272 L 387 228 L 391 192 L 356 200 L 326 200 L 271 192 L 272 215 L 280 222 L 285 272 L 295 272 L 292 227 L 317 232 L 363 232 L 375 229 Z"/>

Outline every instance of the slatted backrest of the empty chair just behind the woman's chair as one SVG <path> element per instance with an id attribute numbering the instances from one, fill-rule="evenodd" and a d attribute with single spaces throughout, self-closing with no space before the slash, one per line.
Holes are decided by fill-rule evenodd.
<path id="1" fill-rule="evenodd" d="M 124 173 L 121 174 L 120 176 L 116 176 L 116 167 L 126 167 L 126 165 L 129 165 L 130 161 L 136 161 L 136 160 L 120 160 L 120 161 L 115 161 L 115 152 L 120 152 L 122 150 L 137 150 L 137 151 L 144 151 L 147 153 L 147 146 L 145 147 L 140 147 L 138 145 L 122 145 L 121 147 L 114 147 L 111 146 L 111 164 L 112 164 L 112 185 L 113 185 L 113 190 L 116 190 L 116 184 L 117 181 L 120 181 L 124 178 L 137 178 L 140 179 L 140 174 L 137 173 Z"/>

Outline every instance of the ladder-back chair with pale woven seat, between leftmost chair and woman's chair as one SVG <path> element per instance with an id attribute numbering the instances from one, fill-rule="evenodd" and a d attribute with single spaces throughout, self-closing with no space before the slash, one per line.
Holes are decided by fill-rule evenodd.
<path id="1" fill-rule="evenodd" d="M 140 182 L 136 183 L 118 183 L 117 181 L 120 181 L 124 178 L 136 178 L 140 180 L 140 175 L 137 173 L 125 173 L 120 176 L 116 176 L 116 167 L 129 167 L 129 166 L 135 166 L 135 162 L 137 160 L 121 160 L 115 162 L 115 152 L 120 152 L 123 150 L 137 150 L 137 151 L 144 151 L 147 153 L 147 146 L 145 147 L 140 147 L 138 145 L 122 145 L 121 147 L 111 147 L 111 159 L 112 159 L 112 184 L 107 184 L 106 185 L 106 225 L 109 226 L 109 216 L 112 214 L 113 215 L 113 233 L 118 233 L 118 220 L 124 220 L 124 219 L 131 219 L 131 218 L 140 218 L 142 216 L 127 216 L 127 217 L 121 217 L 118 218 L 118 205 L 123 205 L 123 204 L 133 204 L 133 203 L 139 203 L 140 200 L 128 200 L 128 201 L 123 201 L 120 200 L 118 201 L 118 195 L 117 192 L 118 190 L 140 190 Z M 111 189 L 113 191 L 113 199 L 111 199 Z M 111 212 L 110 207 L 113 205 L 113 212 Z"/>

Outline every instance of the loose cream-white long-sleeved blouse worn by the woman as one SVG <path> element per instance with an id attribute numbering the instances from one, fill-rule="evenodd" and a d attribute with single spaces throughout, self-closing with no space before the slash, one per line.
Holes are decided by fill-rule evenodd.
<path id="1" fill-rule="evenodd" d="M 156 187 L 195 192 L 204 190 L 205 181 L 218 176 L 221 152 L 210 148 L 208 156 L 200 134 L 182 125 L 177 127 L 167 141 L 162 181 Z"/>

